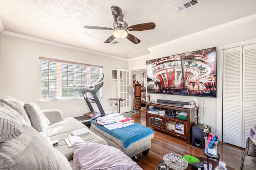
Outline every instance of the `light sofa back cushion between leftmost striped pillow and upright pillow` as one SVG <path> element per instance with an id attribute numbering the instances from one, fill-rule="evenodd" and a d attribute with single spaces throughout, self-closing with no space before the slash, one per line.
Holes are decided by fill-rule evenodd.
<path id="1" fill-rule="evenodd" d="M 12 107 L 14 110 L 18 111 L 20 114 L 22 114 L 24 120 L 28 125 L 31 126 L 30 119 L 28 117 L 28 113 L 26 112 L 24 108 L 24 103 L 21 102 L 20 100 L 12 97 L 6 97 L 6 99 L 0 99 L 0 102 L 3 102 L 7 104 L 8 106 Z"/>

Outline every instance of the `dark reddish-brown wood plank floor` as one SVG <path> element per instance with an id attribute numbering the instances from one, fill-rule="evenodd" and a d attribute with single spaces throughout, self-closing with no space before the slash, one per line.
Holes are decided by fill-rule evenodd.
<path id="1" fill-rule="evenodd" d="M 138 114 L 123 113 L 127 118 L 134 119 L 136 123 L 146 125 L 146 112 L 145 109 L 141 109 Z M 144 170 L 154 170 L 159 161 L 163 159 L 163 156 L 168 153 L 176 153 L 180 155 L 192 155 L 204 157 L 203 150 L 192 145 L 188 145 L 185 140 L 172 135 L 168 135 L 156 129 L 153 129 L 154 139 L 151 141 L 151 147 L 147 156 L 142 156 L 141 161 L 137 164 Z M 236 147 L 234 145 L 220 143 L 217 148 L 218 154 L 220 154 L 220 161 L 226 163 L 226 165 L 240 169 L 242 162 L 242 156 L 244 155 L 244 149 Z M 215 168 L 215 167 L 214 167 Z"/>

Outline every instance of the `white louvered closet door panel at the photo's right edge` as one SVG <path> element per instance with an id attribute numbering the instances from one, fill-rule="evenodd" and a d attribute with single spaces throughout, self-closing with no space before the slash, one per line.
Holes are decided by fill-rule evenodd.
<path id="1" fill-rule="evenodd" d="M 243 148 L 256 124 L 256 44 L 243 46 Z"/>

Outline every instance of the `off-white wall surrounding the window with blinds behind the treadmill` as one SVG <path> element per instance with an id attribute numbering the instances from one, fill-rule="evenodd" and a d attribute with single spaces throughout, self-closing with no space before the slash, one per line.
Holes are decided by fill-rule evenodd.
<path id="1" fill-rule="evenodd" d="M 112 112 L 108 98 L 117 97 L 117 82 L 110 81 L 110 68 L 128 69 L 128 61 L 50 45 L 20 37 L 1 35 L 0 97 L 12 96 L 18 100 L 34 102 L 40 109 L 60 109 L 63 117 L 89 112 L 84 99 L 39 102 L 39 58 L 48 57 L 66 61 L 103 66 L 104 85 L 100 103 L 105 113 Z M 92 104 L 99 111 L 96 104 Z"/>

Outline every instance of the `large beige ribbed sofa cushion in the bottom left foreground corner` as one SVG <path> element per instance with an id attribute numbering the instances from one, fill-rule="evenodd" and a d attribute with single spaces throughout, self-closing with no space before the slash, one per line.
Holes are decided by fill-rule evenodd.
<path id="1" fill-rule="evenodd" d="M 23 133 L 0 143 L 0 165 L 12 170 L 72 170 L 67 158 L 34 128 L 23 124 Z"/>

